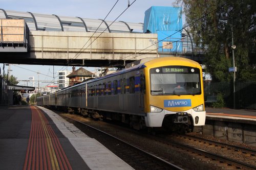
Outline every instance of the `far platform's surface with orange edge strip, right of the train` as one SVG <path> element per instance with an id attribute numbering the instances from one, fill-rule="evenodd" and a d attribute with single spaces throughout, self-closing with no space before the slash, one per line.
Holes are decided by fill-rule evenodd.
<path id="1" fill-rule="evenodd" d="M 256 110 L 206 107 L 206 119 L 219 119 L 228 122 L 256 125 Z"/>

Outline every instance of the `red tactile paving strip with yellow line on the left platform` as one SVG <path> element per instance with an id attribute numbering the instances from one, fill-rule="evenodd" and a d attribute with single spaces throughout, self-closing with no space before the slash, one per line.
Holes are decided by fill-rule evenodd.
<path id="1" fill-rule="evenodd" d="M 23 169 L 72 169 L 46 116 L 40 109 L 30 108 L 32 123 Z"/>

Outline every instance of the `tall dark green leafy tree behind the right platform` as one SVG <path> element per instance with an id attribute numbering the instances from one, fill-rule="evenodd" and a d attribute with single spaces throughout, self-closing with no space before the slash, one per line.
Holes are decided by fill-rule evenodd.
<path id="1" fill-rule="evenodd" d="M 256 80 L 255 68 L 255 0 L 177 0 L 193 34 L 197 47 L 206 50 L 204 64 L 213 81 L 229 81 L 233 74 L 232 36 L 237 80 Z M 223 20 L 226 19 L 226 20 Z M 233 27 L 232 27 L 233 26 Z M 253 67 L 254 64 L 254 67 Z"/>

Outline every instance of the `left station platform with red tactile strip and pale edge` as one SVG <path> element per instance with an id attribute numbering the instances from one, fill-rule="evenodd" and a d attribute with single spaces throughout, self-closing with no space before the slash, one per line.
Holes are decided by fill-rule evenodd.
<path id="1" fill-rule="evenodd" d="M 42 107 L 0 106 L 0 129 L 0 169 L 133 169 Z"/>

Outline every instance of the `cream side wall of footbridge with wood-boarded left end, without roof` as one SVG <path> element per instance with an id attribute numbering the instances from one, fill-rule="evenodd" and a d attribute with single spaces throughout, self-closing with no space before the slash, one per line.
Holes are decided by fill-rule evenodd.
<path id="1" fill-rule="evenodd" d="M 122 65 L 155 58 L 157 34 L 27 31 L 23 19 L 1 19 L 3 63 Z"/>

